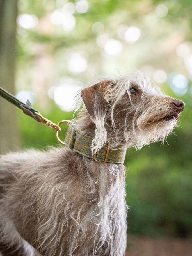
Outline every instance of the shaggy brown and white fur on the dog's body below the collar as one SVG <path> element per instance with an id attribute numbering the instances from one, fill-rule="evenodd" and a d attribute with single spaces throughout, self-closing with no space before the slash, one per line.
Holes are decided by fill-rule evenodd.
<path id="1" fill-rule="evenodd" d="M 67 149 L 67 151 L 70 150 Z M 87 171 L 84 171 L 84 165 L 82 166 L 79 161 L 78 171 L 80 175 L 83 172 L 82 184 L 84 186 L 80 186 L 80 190 L 78 190 L 77 186 L 72 185 L 74 181 L 71 177 L 66 177 L 66 184 L 61 179 L 63 170 L 67 169 L 67 163 L 63 163 L 63 169 L 58 170 L 60 166 L 50 159 L 50 153 L 57 162 L 61 156 L 64 156 L 65 150 L 64 152 L 62 148 L 52 149 L 50 152 L 29 150 L 20 153 L 20 159 L 17 154 L 9 154 L 1 159 L 1 161 L 6 161 L 11 157 L 13 163 L 16 164 L 16 161 L 22 162 L 27 157 L 27 163 L 19 169 L 19 173 L 18 171 L 14 172 L 17 177 L 15 180 L 17 186 L 12 187 L 10 195 L 8 195 L 8 197 L 14 197 L 17 194 L 17 201 L 11 200 L 11 205 L 5 205 L 4 199 L 1 200 L 1 241 L 9 242 L 10 245 L 14 245 L 17 241 L 17 248 L 22 246 L 23 240 L 15 230 L 15 224 L 8 220 L 8 216 L 11 215 L 13 218 L 16 213 L 18 214 L 15 211 L 19 210 L 19 215 L 22 215 L 23 220 L 22 230 L 26 229 L 31 218 L 37 218 L 36 234 L 31 231 L 35 236 L 32 238 L 32 245 L 42 255 L 88 256 L 90 249 L 92 250 L 91 255 L 102 255 L 104 253 L 103 246 L 111 256 L 123 255 L 126 248 L 127 209 L 125 181 L 122 176 L 124 170 L 120 171 L 114 164 L 93 165 L 91 159 L 83 157 Z M 14 161 L 15 158 L 17 158 L 16 161 Z M 81 170 L 82 167 L 83 170 Z M 7 177 L 12 175 L 11 173 L 5 174 Z M 19 189 L 21 182 L 25 183 L 25 187 Z M 2 185 L 2 180 L 0 184 Z M 68 191 L 67 186 L 70 185 L 72 185 L 73 191 Z M 82 196 L 79 198 L 81 202 L 77 200 L 79 194 Z M 71 196 L 74 196 L 77 202 L 74 202 L 70 198 Z M 29 203 L 26 204 L 26 202 Z M 3 221 L 7 223 L 3 224 Z M 69 235 L 61 241 L 66 230 Z M 22 232 L 19 230 L 19 233 L 24 236 Z M 10 241 L 10 236 L 12 241 Z M 29 241 L 28 235 L 25 239 Z M 68 250 L 65 254 L 67 245 Z M 80 251 L 79 248 L 81 248 Z"/>

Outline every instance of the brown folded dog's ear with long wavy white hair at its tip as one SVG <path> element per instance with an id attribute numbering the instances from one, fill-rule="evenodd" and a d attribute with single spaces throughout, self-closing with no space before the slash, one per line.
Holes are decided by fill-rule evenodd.
<path id="1" fill-rule="evenodd" d="M 91 149 L 94 153 L 99 151 L 106 143 L 107 132 L 105 129 L 105 116 L 109 103 L 104 98 L 106 86 L 110 81 L 102 81 L 81 91 L 81 97 L 90 115 L 95 123 L 95 138 L 92 141 Z"/>

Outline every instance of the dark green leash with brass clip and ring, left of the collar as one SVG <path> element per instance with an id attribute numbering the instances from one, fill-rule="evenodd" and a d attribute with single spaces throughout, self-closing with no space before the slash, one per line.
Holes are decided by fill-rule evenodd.
<path id="1" fill-rule="evenodd" d="M 61 131 L 61 128 L 59 126 L 62 123 L 68 123 L 68 122 L 72 124 L 71 121 L 69 121 L 69 120 L 62 120 L 61 122 L 59 122 L 56 125 L 55 123 L 51 122 L 47 118 L 43 117 L 38 110 L 33 109 L 31 107 L 31 103 L 30 103 L 29 99 L 27 100 L 26 104 L 24 104 L 19 99 L 17 99 L 15 96 L 13 96 L 12 94 L 8 93 L 2 87 L 0 87 L 0 96 L 3 97 L 4 99 L 8 100 L 10 103 L 14 104 L 15 106 L 17 106 L 19 109 L 22 109 L 24 114 L 31 116 L 37 122 L 43 123 L 44 125 L 48 125 L 49 127 L 51 127 L 54 131 L 56 131 L 56 139 L 57 139 L 57 141 L 59 143 L 61 143 L 62 145 L 65 145 L 65 143 L 63 141 L 61 141 L 60 138 L 58 137 L 58 132 Z"/>

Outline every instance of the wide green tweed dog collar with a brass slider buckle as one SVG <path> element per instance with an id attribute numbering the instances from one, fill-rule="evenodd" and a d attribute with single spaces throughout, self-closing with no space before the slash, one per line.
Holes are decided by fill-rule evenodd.
<path id="1" fill-rule="evenodd" d="M 99 150 L 94 156 L 90 150 L 92 140 L 93 137 L 89 135 L 82 135 L 80 130 L 75 129 L 73 125 L 69 125 L 65 138 L 65 145 L 72 149 L 74 152 L 94 159 L 99 163 L 124 163 L 126 148 L 120 149 L 120 147 L 117 147 L 115 149 L 108 149 L 108 142 L 106 142 L 105 146 L 102 147 L 101 150 Z"/>

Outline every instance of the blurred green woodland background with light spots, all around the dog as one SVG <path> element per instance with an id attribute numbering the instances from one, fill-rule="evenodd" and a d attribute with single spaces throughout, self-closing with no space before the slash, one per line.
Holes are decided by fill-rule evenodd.
<path id="1" fill-rule="evenodd" d="M 70 120 L 75 93 L 115 68 L 185 102 L 164 145 L 127 150 L 127 255 L 191 255 L 192 1 L 0 0 L 0 86 L 49 120 Z M 1 98 L 1 154 L 47 145 L 54 131 Z"/>

